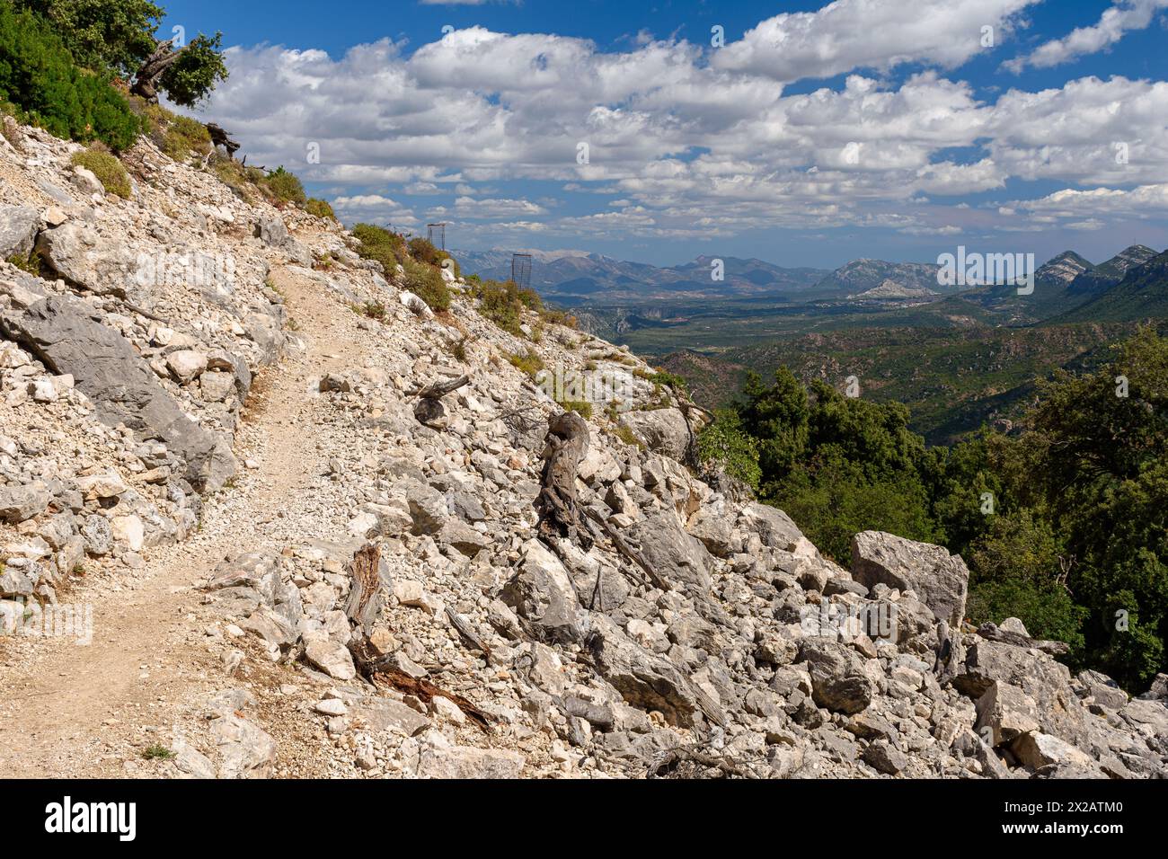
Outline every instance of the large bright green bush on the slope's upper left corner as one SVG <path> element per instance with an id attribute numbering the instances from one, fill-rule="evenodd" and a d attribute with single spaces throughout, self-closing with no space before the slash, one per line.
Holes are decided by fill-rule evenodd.
<path id="1" fill-rule="evenodd" d="M 8 2 L 0 2 L 0 101 L 51 134 L 114 151 L 133 146 L 141 130 L 107 72 L 79 69 L 49 25 Z"/>

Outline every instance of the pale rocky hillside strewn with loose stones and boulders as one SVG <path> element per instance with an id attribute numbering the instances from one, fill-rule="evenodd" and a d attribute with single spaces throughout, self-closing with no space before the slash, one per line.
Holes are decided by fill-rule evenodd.
<path id="1" fill-rule="evenodd" d="M 941 548 L 825 560 L 682 464 L 701 415 L 626 351 L 507 333 L 452 269 L 434 314 L 148 141 L 127 199 L 76 150 L 0 139 L 7 773 L 1164 774 L 1168 677 L 969 629 Z"/>

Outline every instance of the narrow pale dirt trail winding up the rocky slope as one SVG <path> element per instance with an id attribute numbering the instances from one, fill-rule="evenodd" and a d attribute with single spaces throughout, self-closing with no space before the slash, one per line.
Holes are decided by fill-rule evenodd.
<path id="1" fill-rule="evenodd" d="M 299 490 L 320 473 L 307 395 L 313 379 L 360 355 L 346 335 L 349 319 L 319 284 L 284 269 L 272 278 L 285 296 L 304 349 L 256 381 L 244 431 L 244 456 L 257 470 L 235 490 L 206 500 L 202 527 L 175 546 L 146 550 L 137 571 L 97 575 L 63 597 L 92 607 L 92 640 L 21 643 L 0 651 L 0 769 L 9 777 L 117 776 L 127 747 L 151 744 L 140 725 L 173 723 L 181 701 L 222 688 L 222 666 L 201 644 L 209 621 L 197 617 L 197 584 L 228 555 L 257 548 L 256 525 L 294 510 Z M 352 314 L 350 314 L 352 316 Z M 242 457 L 241 457 L 242 458 Z M 159 737 L 166 744 L 167 737 Z"/>

